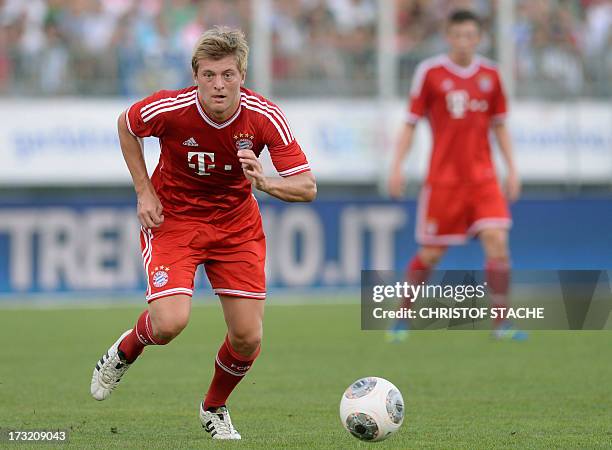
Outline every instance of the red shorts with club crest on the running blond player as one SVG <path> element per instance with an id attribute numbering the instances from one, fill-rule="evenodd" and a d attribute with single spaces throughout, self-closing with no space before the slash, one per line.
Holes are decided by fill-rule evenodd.
<path id="1" fill-rule="evenodd" d="M 254 213 L 251 220 L 242 217 L 246 225 L 240 227 L 166 217 L 159 228 L 141 228 L 147 302 L 193 295 L 200 264 L 215 294 L 264 300 L 266 240 L 259 210 Z"/>

